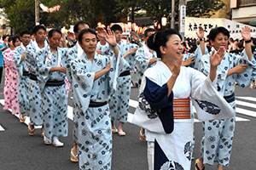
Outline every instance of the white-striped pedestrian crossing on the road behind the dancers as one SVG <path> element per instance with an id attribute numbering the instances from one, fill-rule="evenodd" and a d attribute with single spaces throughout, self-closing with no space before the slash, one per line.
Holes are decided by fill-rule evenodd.
<path id="1" fill-rule="evenodd" d="M 73 99 L 73 98 L 71 98 Z M 4 105 L 4 100 L 0 99 L 0 104 Z M 130 99 L 129 106 L 133 109 L 136 109 L 138 105 L 138 101 L 134 99 Z M 246 107 L 241 108 L 241 106 Z M 11 111 L 11 109 L 9 109 Z M 194 108 L 195 111 L 195 108 Z M 196 113 L 196 111 L 195 111 Z M 17 118 L 19 116 L 15 115 Z M 241 116 L 247 116 L 247 118 L 243 118 Z M 73 107 L 67 106 L 67 117 L 70 120 L 73 120 Z M 133 113 L 128 113 L 128 122 L 132 123 Z M 256 98 L 254 97 L 236 97 L 236 122 L 247 122 L 250 121 L 250 117 L 256 118 Z M 30 122 L 29 118 L 26 118 L 26 124 Z M 195 119 L 195 122 L 201 122 L 198 119 Z M 40 126 L 36 126 L 36 128 L 41 128 Z M 4 131 L 4 128 L 0 125 L 0 131 Z"/>

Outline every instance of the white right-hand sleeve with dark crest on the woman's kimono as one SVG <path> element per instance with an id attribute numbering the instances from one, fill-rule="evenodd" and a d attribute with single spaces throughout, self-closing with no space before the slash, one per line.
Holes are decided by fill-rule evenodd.
<path id="1" fill-rule="evenodd" d="M 218 94 L 214 82 L 200 71 L 190 70 L 191 99 L 198 119 L 209 121 L 235 116 L 235 111 L 227 101 Z"/>

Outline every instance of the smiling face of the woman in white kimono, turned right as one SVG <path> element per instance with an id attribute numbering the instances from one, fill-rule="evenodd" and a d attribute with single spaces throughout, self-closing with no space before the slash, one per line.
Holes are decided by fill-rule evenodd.
<path id="1" fill-rule="evenodd" d="M 176 34 L 169 37 L 168 42 L 166 42 L 166 47 L 161 46 L 161 53 L 168 57 L 168 60 L 172 62 L 177 61 L 177 59 L 183 57 L 183 43 Z"/>

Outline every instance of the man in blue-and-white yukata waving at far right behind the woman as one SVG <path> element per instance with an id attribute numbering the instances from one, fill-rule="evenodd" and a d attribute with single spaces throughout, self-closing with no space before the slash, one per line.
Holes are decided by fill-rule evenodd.
<path id="1" fill-rule="evenodd" d="M 200 69 L 205 75 L 209 74 L 209 59 L 212 53 L 220 47 L 227 48 L 230 32 L 224 27 L 212 29 L 209 39 L 212 44 L 212 52 L 201 57 Z M 241 55 L 225 52 L 224 59 L 218 65 L 217 79 L 214 81 L 218 93 L 236 111 L 235 82 L 242 88 L 246 87 L 255 73 L 255 59 L 251 51 L 251 32 L 248 26 L 242 28 L 241 37 L 245 40 L 245 50 Z M 230 154 L 234 138 L 236 116 L 228 119 L 203 122 L 203 138 L 201 143 L 201 157 L 196 160 L 197 170 L 204 168 L 204 164 L 213 165 L 218 162 L 218 170 L 230 164 Z"/>

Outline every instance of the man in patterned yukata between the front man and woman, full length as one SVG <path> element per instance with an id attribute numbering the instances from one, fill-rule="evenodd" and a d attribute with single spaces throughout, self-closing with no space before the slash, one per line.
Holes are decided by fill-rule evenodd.
<path id="1" fill-rule="evenodd" d="M 130 42 L 122 42 L 122 27 L 119 25 L 113 25 L 111 31 L 114 32 L 116 42 L 118 43 L 120 53 L 125 59 L 125 65 L 122 68 L 122 72 L 119 74 L 117 81 L 117 89 L 113 92 L 112 97 L 109 100 L 109 107 L 111 112 L 111 124 L 112 132 L 118 133 L 119 136 L 125 136 L 123 131 L 124 123 L 128 119 L 129 99 L 131 93 L 131 73 L 134 70 L 135 53 L 138 45 Z M 142 43 L 139 41 L 139 37 L 135 32 L 131 32 L 133 39 L 138 42 L 140 46 Z M 106 51 L 108 54 L 108 51 Z M 118 129 L 115 127 L 115 121 L 119 121 Z"/>

